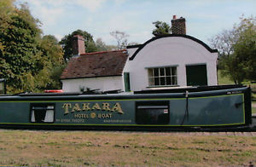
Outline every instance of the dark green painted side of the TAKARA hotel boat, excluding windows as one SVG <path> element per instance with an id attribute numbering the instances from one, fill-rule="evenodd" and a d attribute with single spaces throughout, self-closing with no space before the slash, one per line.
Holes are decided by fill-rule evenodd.
<path id="1" fill-rule="evenodd" d="M 50 103 L 55 105 L 55 121 L 50 125 L 117 125 L 117 126 L 223 126 L 246 124 L 245 89 L 219 90 L 204 93 L 190 93 L 188 99 L 189 117 L 184 118 L 187 100 L 183 94 L 159 95 L 82 95 L 82 96 L 7 96 L 0 98 L 0 124 L 34 124 L 31 123 L 31 106 Z M 230 93 L 233 91 L 233 93 Z M 217 92 L 217 93 L 215 93 Z M 219 93 L 220 92 L 220 93 Z M 235 92 L 235 93 L 234 93 Z M 230 93 L 230 95 L 229 95 Z M 207 96 L 205 96 L 205 94 Z M 211 94 L 211 93 L 210 93 Z M 221 95 L 219 95 L 221 94 Z M 194 95 L 194 96 L 193 96 Z M 177 97 L 178 96 L 178 97 Z M 91 100 L 96 98 L 95 100 Z M 60 100 L 58 100 L 60 99 Z M 169 124 L 137 124 L 137 101 L 168 101 Z M 65 114 L 65 104 L 71 104 Z M 78 105 L 82 110 L 83 103 L 102 107 L 108 103 L 113 108 L 117 103 L 123 113 L 103 111 L 102 109 L 72 112 Z M 236 107 L 236 104 L 241 103 Z M 78 115 L 80 114 L 80 115 Z M 81 115 L 82 114 L 82 115 Z M 184 121 L 183 121 L 184 119 Z M 181 124 L 183 122 L 183 124 Z M 37 124 L 37 123 L 36 123 Z M 44 124 L 45 125 L 45 124 Z"/>

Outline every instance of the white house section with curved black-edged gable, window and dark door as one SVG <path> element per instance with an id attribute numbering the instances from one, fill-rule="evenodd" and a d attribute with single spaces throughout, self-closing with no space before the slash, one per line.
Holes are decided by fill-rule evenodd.
<path id="1" fill-rule="evenodd" d="M 154 37 L 127 50 L 131 90 L 218 84 L 218 53 L 195 37 Z"/>

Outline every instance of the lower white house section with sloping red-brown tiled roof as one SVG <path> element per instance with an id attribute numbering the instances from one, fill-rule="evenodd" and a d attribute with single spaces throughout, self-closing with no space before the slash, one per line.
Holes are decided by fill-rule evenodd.
<path id="1" fill-rule="evenodd" d="M 61 74 L 64 92 L 86 89 L 124 89 L 123 70 L 126 50 L 80 54 L 73 57 Z"/>

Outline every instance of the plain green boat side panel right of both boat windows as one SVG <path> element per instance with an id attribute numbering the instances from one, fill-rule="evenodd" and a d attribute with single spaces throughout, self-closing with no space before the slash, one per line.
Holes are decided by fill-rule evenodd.
<path id="1" fill-rule="evenodd" d="M 214 126 L 245 124 L 243 95 L 189 98 L 170 102 L 170 124 Z"/>

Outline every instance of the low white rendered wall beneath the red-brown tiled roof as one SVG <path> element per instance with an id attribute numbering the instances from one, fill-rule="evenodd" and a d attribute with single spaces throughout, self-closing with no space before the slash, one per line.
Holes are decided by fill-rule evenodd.
<path id="1" fill-rule="evenodd" d="M 75 78 L 61 80 L 64 92 L 79 92 L 80 88 L 100 89 L 101 91 L 124 89 L 122 76 L 102 78 Z"/>

